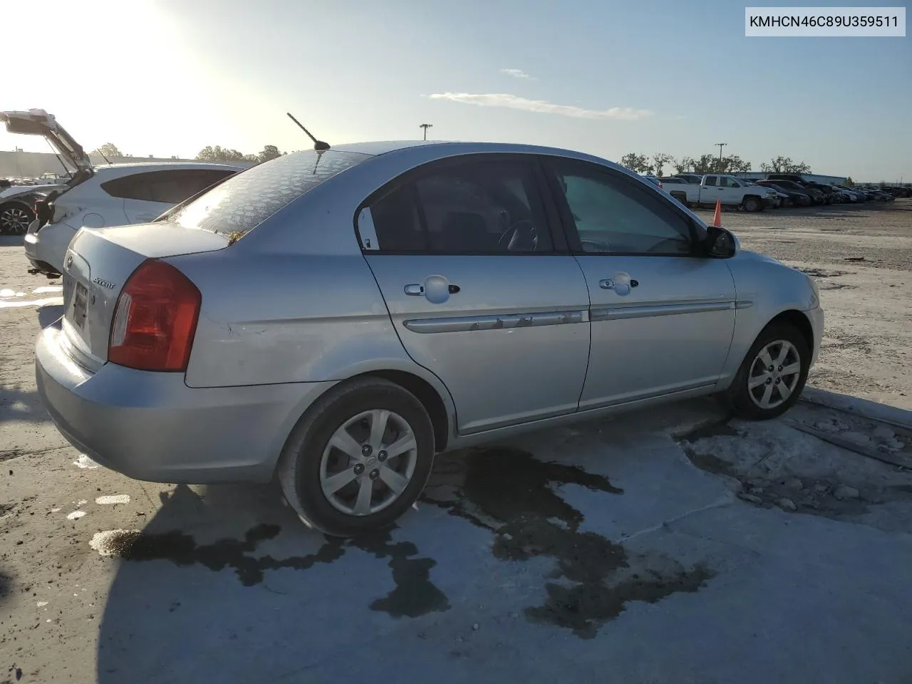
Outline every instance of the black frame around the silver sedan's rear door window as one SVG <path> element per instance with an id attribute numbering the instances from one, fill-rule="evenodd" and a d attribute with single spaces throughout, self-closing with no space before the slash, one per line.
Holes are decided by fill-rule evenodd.
<path id="1" fill-rule="evenodd" d="M 383 250 L 378 248 L 371 248 L 366 246 L 368 241 L 373 240 L 378 243 L 376 228 L 374 227 L 373 216 L 371 215 L 370 208 L 387 195 L 392 192 L 399 190 L 402 186 L 411 185 L 410 194 L 413 195 L 413 201 L 416 203 L 417 211 L 419 212 L 420 222 L 422 225 L 427 225 L 426 219 L 424 217 L 424 210 L 421 206 L 420 199 L 416 192 L 415 181 L 419 180 L 422 176 L 433 173 L 435 171 L 451 169 L 453 167 L 458 167 L 463 164 L 472 163 L 474 161 L 513 161 L 520 162 L 525 166 L 528 171 L 532 173 L 534 181 L 534 190 L 537 192 L 537 199 L 540 203 L 542 218 L 545 223 L 545 227 L 548 230 L 548 235 L 551 238 L 552 247 L 547 252 L 458 252 L 458 253 L 446 253 L 446 252 L 431 252 L 430 250 L 420 250 L 420 251 L 401 251 L 401 250 Z M 530 197 L 530 201 L 534 201 L 535 198 Z M 367 212 L 365 212 L 367 210 Z M 366 216 L 370 217 L 370 222 L 368 223 L 368 228 L 362 235 L 361 230 L 358 227 L 358 219 L 361 216 L 362 212 L 365 212 Z M 362 202 L 358 204 L 358 207 L 355 210 L 353 216 L 353 226 L 355 229 L 355 237 L 358 240 L 358 246 L 361 248 L 363 254 L 372 254 L 372 255 L 392 255 L 392 256 L 555 256 L 555 255 L 567 255 L 570 254 L 570 247 L 566 239 L 566 234 L 564 227 L 562 225 L 562 220 L 560 217 L 560 211 L 557 207 L 557 204 L 554 202 L 554 195 L 551 192 L 551 188 L 548 184 L 544 167 L 541 163 L 539 157 L 535 154 L 524 154 L 521 152 L 472 152 L 471 154 L 459 154 L 451 157 L 445 157 L 443 159 L 437 159 L 433 161 L 427 161 L 419 166 L 416 166 L 409 171 L 400 173 L 396 178 L 391 181 L 385 182 L 377 190 L 371 192 Z"/>

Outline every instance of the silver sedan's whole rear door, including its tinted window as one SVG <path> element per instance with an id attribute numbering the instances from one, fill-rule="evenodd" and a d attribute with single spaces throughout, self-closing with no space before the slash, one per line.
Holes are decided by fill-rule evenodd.
<path id="1" fill-rule="evenodd" d="M 399 338 L 450 390 L 462 433 L 577 409 L 589 298 L 542 183 L 534 158 L 460 157 L 394 181 L 358 215 Z"/>

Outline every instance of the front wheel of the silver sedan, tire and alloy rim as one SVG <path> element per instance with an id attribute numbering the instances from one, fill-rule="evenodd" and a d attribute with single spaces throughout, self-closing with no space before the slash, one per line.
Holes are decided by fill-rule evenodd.
<path id="1" fill-rule="evenodd" d="M 768 420 L 792 408 L 804 389 L 811 351 L 795 326 L 766 326 L 754 341 L 728 390 L 742 418 Z"/>

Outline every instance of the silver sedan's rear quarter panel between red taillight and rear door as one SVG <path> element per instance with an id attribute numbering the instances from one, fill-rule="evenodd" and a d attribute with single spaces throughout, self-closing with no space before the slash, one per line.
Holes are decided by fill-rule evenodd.
<path id="1" fill-rule="evenodd" d="M 202 293 L 190 387 L 339 380 L 409 360 L 361 254 L 229 248 L 169 261 Z"/>

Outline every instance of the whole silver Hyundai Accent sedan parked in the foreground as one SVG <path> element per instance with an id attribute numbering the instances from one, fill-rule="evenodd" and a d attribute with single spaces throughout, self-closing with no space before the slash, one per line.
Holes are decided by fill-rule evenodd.
<path id="1" fill-rule="evenodd" d="M 154 482 L 265 482 L 316 528 L 408 510 L 434 454 L 720 394 L 793 405 L 814 283 L 636 174 L 506 144 L 269 161 L 142 226 L 81 229 L 41 397 Z"/>

